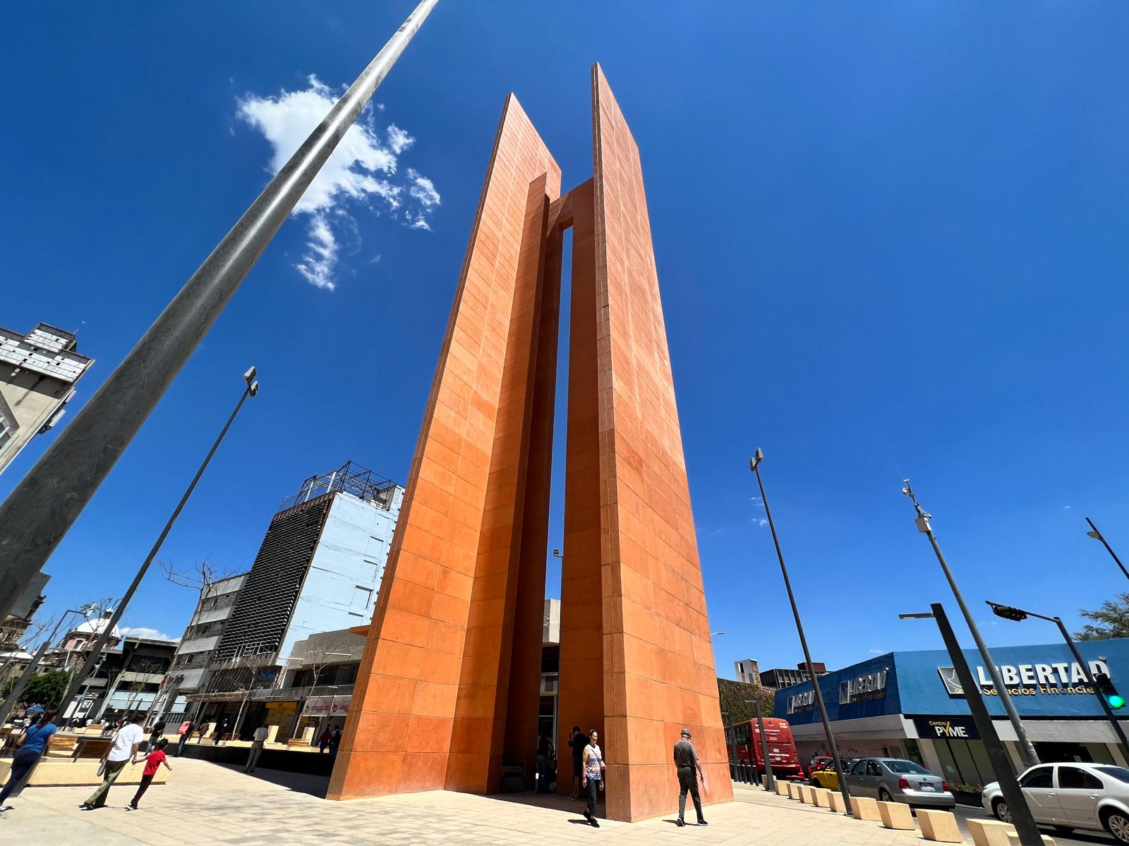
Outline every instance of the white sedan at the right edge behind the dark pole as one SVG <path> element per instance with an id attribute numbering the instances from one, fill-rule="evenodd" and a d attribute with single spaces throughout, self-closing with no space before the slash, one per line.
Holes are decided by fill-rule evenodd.
<path id="1" fill-rule="evenodd" d="M 1129 843 L 1129 769 L 1112 764 L 1040 764 L 1019 776 L 1019 787 L 1041 826 L 1053 826 L 1060 834 L 1104 828 L 1119 843 Z M 999 782 L 984 787 L 981 802 L 996 819 L 1012 821 Z"/>

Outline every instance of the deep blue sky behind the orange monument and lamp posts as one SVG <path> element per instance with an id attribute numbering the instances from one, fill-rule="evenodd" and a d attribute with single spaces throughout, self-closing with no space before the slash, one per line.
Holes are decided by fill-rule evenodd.
<path id="1" fill-rule="evenodd" d="M 77 327 L 89 397 L 265 184 L 292 129 L 271 104 L 340 90 L 410 6 L 12 9 L 0 325 Z M 348 459 L 402 481 L 505 95 L 578 184 L 598 60 L 642 152 L 720 675 L 800 660 L 758 446 L 815 660 L 938 645 L 896 619 L 947 598 L 904 476 L 973 605 L 1075 625 L 1127 589 L 1083 520 L 1129 558 L 1127 24 L 1112 1 L 443 0 L 366 118 L 373 169 L 279 232 L 58 548 L 49 609 L 124 590 L 248 364 L 262 393 L 164 559 L 246 569 L 279 501 Z M 178 635 L 192 602 L 154 572 L 125 625 Z"/>

